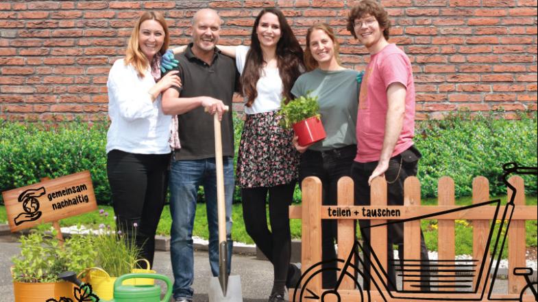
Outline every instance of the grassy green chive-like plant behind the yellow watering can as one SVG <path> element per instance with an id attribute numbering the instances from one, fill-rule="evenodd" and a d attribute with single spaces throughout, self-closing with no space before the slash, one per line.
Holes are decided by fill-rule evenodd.
<path id="1" fill-rule="evenodd" d="M 103 210 L 99 212 L 103 216 L 108 216 Z M 138 225 L 134 223 L 128 228 L 137 227 Z M 132 231 L 132 234 L 136 234 L 134 230 Z M 104 224 L 99 225 L 98 232 L 93 242 L 93 248 L 97 251 L 96 266 L 106 271 L 110 277 L 131 273 L 140 255 L 140 249 L 136 246 L 136 236 L 127 236 L 118 228 Z"/>

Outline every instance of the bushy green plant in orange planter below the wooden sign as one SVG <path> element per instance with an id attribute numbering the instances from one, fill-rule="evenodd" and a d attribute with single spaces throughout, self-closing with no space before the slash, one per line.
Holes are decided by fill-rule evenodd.
<path id="1" fill-rule="evenodd" d="M 80 272 L 93 266 L 95 260 L 92 238 L 88 236 L 73 235 L 60 247 L 56 231 L 49 234 L 31 230 L 19 241 L 21 253 L 12 258 L 16 302 L 73 297 L 73 286 L 58 279 L 58 274 L 66 270 Z"/>

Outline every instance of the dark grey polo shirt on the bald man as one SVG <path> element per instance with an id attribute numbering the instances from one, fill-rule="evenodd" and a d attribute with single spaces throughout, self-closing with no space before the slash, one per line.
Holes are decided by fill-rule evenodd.
<path id="1" fill-rule="evenodd" d="M 221 122 L 223 156 L 234 156 L 234 124 L 232 122 L 232 98 L 239 83 L 239 72 L 235 61 L 215 48 L 212 64 L 197 58 L 188 44 L 184 53 L 175 55 L 180 61 L 179 70 L 182 88 L 176 88 L 181 98 L 210 96 L 222 100 L 230 107 Z M 213 116 L 198 107 L 178 115 L 181 150 L 176 160 L 208 159 L 215 157 L 215 132 Z"/>

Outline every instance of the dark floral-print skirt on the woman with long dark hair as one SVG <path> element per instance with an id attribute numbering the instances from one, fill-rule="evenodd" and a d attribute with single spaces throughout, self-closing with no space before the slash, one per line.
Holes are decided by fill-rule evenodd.
<path id="1" fill-rule="evenodd" d="M 287 184 L 299 174 L 299 152 L 293 147 L 293 130 L 278 122 L 277 111 L 247 114 L 237 159 L 241 188 Z"/>

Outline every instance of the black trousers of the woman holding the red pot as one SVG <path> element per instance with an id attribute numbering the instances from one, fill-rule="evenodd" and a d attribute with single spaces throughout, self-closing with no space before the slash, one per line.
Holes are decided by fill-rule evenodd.
<path id="1" fill-rule="evenodd" d="M 302 182 L 308 176 L 316 176 L 321 180 L 322 204 L 330 206 L 337 204 L 337 183 L 342 176 L 351 176 L 351 165 L 357 152 L 356 145 L 328 151 L 306 150 L 301 155 L 299 180 Z M 337 240 L 337 221 L 325 219 L 321 221 L 321 259 L 336 260 L 334 243 Z M 334 288 L 337 284 L 337 262 L 323 264 L 323 288 Z"/>

